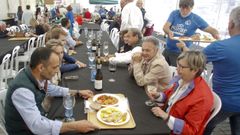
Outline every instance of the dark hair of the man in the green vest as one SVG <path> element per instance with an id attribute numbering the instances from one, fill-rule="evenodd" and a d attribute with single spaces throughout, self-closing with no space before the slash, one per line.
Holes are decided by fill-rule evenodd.
<path id="1" fill-rule="evenodd" d="M 48 60 L 52 53 L 55 53 L 52 49 L 46 47 L 39 47 L 31 55 L 30 68 L 34 69 L 39 64 L 47 65 Z"/>

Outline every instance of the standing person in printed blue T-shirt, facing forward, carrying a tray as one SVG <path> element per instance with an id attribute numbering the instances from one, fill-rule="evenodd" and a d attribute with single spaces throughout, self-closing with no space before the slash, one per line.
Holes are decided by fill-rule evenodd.
<path id="1" fill-rule="evenodd" d="M 219 39 L 219 33 L 216 29 L 209 26 L 200 16 L 191 12 L 193 6 L 194 0 L 180 0 L 180 9 L 174 10 L 164 24 L 163 31 L 168 34 L 168 38 L 163 56 L 169 65 L 177 66 L 176 59 L 180 54 L 180 50 L 176 46 L 178 41 L 172 40 L 172 37 L 196 36 L 196 30 L 201 29 L 210 33 L 215 39 Z M 186 42 L 186 44 L 189 47 L 192 43 Z"/>

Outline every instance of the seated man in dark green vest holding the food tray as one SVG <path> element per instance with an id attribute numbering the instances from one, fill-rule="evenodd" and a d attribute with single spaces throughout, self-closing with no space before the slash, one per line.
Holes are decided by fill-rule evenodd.
<path id="1" fill-rule="evenodd" d="M 22 70 L 9 85 L 6 95 L 5 121 L 9 135 L 58 135 L 68 131 L 89 132 L 97 127 L 87 120 L 61 122 L 46 118 L 42 101 L 46 95 L 93 95 L 90 90 L 69 90 L 48 84 L 59 70 L 59 56 L 49 48 L 37 48 L 31 56 L 30 66 Z"/>

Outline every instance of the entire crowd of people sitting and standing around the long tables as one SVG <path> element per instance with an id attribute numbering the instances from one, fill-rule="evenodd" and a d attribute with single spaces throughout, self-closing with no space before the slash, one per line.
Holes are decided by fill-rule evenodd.
<path id="1" fill-rule="evenodd" d="M 153 26 L 142 0 L 121 0 L 121 15 L 111 8 L 100 7 L 94 13 L 84 8 L 74 14 L 71 5 L 57 6 L 48 11 L 36 8 L 35 14 L 29 5 L 26 10 L 18 7 L 18 22 L 32 29 L 32 36 L 46 34 L 46 47 L 37 48 L 25 67 L 9 84 L 6 95 L 6 130 L 12 134 L 60 134 L 69 131 L 86 133 L 97 130 L 87 120 L 60 122 L 50 120 L 45 114 L 51 107 L 52 97 L 79 94 L 84 99 L 93 96 L 91 90 L 70 90 L 58 86 L 61 75 L 86 64 L 68 54 L 82 45 L 74 34 L 75 23 L 93 21 L 101 24 L 103 19 L 113 19 L 110 28 L 120 31 L 118 51 L 109 58 L 118 64 L 128 65 L 126 71 L 138 86 L 157 102 L 152 113 L 164 120 L 171 134 L 210 135 L 217 124 L 230 119 L 233 135 L 240 134 L 240 7 L 234 8 L 229 16 L 229 39 L 221 40 L 217 29 L 210 26 L 200 15 L 192 12 L 194 0 L 180 0 L 179 9 L 170 13 L 163 31 L 168 35 L 163 53 L 159 40 L 152 36 Z M 50 25 L 54 20 L 57 25 Z M 57 20 L 57 21 L 56 21 Z M 53 21 L 52 21 L 53 22 Z M 173 37 L 198 37 L 200 29 L 217 41 L 202 52 L 190 50 L 192 42 L 174 40 Z M 0 37 L 6 37 L 6 24 L 0 22 Z M 111 31 L 109 29 L 109 31 Z M 78 31 L 77 31 L 78 33 Z M 201 76 L 206 63 L 213 64 L 213 87 Z M 172 76 L 171 66 L 177 75 Z M 231 67 L 231 68 L 230 68 Z M 157 82 L 157 91 L 149 92 L 148 86 Z M 79 82 L 81 83 L 81 82 Z M 221 99 L 218 114 L 207 123 L 214 105 L 215 92 Z"/>

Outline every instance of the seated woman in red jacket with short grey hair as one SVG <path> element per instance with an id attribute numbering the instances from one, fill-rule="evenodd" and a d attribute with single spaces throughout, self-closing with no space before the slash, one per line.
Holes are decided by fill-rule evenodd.
<path id="1" fill-rule="evenodd" d="M 211 89 L 201 77 L 205 63 L 201 52 L 183 52 L 177 59 L 178 76 L 173 78 L 173 86 L 164 92 L 148 93 L 153 100 L 164 103 L 161 108 L 153 107 L 152 112 L 166 121 L 171 134 L 203 134 L 213 106 Z"/>

